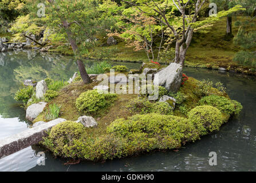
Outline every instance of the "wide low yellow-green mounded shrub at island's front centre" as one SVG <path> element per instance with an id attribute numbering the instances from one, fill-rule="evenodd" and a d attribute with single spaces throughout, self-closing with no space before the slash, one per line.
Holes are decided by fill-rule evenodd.
<path id="1" fill-rule="evenodd" d="M 149 149 L 178 148 L 199 138 L 194 125 L 186 118 L 161 114 L 137 114 L 128 120 L 118 119 L 108 126 L 107 132 L 130 141 L 137 137 L 145 142 L 151 141 L 153 144 Z M 167 141 L 172 143 L 167 145 Z"/>

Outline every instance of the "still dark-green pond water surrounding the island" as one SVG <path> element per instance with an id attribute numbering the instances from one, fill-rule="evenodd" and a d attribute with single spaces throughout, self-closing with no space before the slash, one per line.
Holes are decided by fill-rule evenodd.
<path id="1" fill-rule="evenodd" d="M 87 67 L 95 61 L 86 61 Z M 111 62 L 137 69 L 140 63 Z M 22 132 L 31 125 L 25 120 L 25 110 L 13 100 L 14 93 L 25 79 L 68 80 L 77 71 L 72 57 L 58 54 L 17 51 L 0 53 L 0 138 Z M 64 165 L 66 160 L 54 158 L 36 145 L 0 160 L 0 171 L 256 171 L 256 81 L 238 74 L 216 70 L 184 68 L 184 73 L 196 79 L 220 81 L 229 96 L 242 103 L 238 118 L 223 125 L 219 132 L 187 144 L 178 152 L 152 152 L 136 157 L 78 165 Z M 45 165 L 37 165 L 38 152 L 46 154 Z M 217 166 L 208 164 L 208 154 L 216 152 Z"/>

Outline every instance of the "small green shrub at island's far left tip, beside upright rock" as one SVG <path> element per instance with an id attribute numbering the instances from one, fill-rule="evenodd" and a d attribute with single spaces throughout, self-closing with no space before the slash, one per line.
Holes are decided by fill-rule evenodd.
<path id="1" fill-rule="evenodd" d="M 14 100 L 22 101 L 26 105 L 27 101 L 33 96 L 33 93 L 33 86 L 22 87 L 15 93 Z"/>

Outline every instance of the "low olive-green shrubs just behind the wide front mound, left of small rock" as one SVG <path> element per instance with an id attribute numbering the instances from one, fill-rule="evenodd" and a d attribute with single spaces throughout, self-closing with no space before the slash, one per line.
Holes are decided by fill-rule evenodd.
<path id="1" fill-rule="evenodd" d="M 172 108 L 166 102 L 150 102 L 147 98 L 136 98 L 127 105 L 132 113 L 148 114 L 157 113 L 163 115 L 173 114 Z"/>

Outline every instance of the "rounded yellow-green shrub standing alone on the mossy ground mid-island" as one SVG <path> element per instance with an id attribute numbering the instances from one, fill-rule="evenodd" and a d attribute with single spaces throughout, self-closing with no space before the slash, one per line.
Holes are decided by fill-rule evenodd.
<path id="1" fill-rule="evenodd" d="M 93 114 L 107 108 L 116 97 L 116 94 L 100 94 L 97 90 L 88 90 L 77 98 L 76 107 L 81 113 Z"/>

